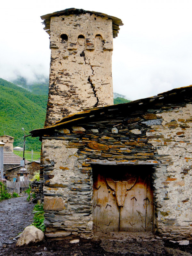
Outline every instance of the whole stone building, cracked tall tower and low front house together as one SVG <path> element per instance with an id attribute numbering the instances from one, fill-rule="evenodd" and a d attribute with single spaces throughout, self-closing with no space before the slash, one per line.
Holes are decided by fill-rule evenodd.
<path id="1" fill-rule="evenodd" d="M 191 240 L 192 86 L 112 105 L 121 20 L 74 8 L 42 19 L 49 100 L 45 127 L 31 133 L 42 140 L 46 236 L 152 231 Z"/>

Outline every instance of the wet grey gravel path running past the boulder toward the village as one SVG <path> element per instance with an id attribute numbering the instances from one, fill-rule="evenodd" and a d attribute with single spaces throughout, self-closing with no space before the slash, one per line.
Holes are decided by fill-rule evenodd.
<path id="1" fill-rule="evenodd" d="M 3 244 L 14 243 L 12 239 L 33 222 L 34 204 L 27 202 L 27 196 L 0 202 L 0 250 Z"/>

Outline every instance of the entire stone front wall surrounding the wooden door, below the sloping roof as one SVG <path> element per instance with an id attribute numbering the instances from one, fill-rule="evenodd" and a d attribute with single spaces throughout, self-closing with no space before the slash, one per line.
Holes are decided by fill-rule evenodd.
<path id="1" fill-rule="evenodd" d="M 92 164 L 153 164 L 157 233 L 191 239 L 191 104 L 110 110 L 43 136 L 46 236 L 92 238 Z"/>

